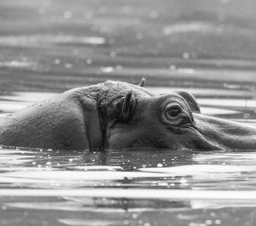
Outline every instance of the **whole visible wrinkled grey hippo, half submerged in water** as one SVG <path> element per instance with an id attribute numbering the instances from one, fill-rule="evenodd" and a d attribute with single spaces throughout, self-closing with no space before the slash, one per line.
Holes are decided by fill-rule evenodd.
<path id="1" fill-rule="evenodd" d="M 0 121 L 0 144 L 59 150 L 255 149 L 256 127 L 200 114 L 187 91 L 106 81 L 69 90 Z"/>

